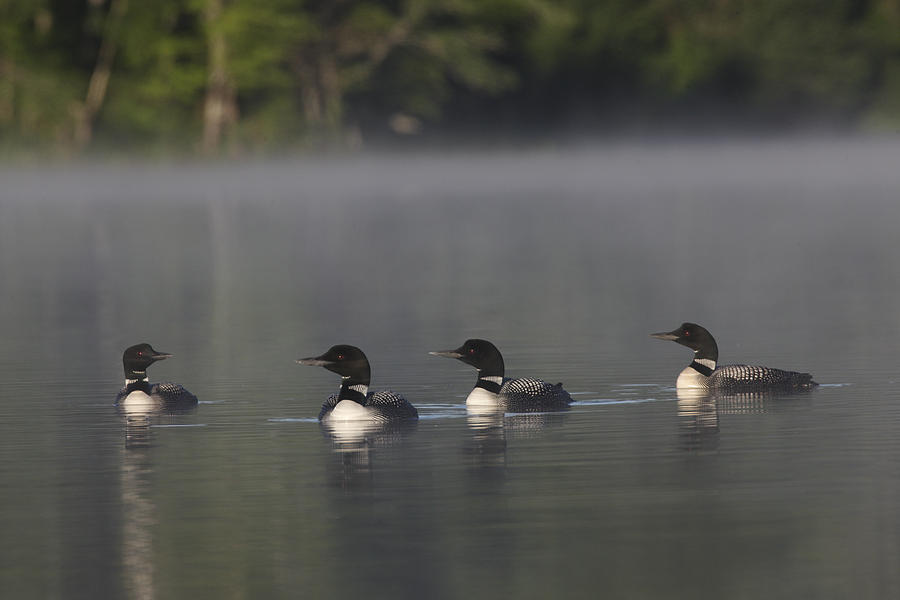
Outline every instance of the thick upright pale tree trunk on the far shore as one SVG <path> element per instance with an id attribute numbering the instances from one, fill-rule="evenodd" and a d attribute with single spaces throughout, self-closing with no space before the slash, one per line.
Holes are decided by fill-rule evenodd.
<path id="1" fill-rule="evenodd" d="M 203 152 L 215 154 L 237 122 L 237 98 L 228 76 L 228 47 L 221 29 L 222 0 L 206 0 L 209 75 L 203 104 Z"/>

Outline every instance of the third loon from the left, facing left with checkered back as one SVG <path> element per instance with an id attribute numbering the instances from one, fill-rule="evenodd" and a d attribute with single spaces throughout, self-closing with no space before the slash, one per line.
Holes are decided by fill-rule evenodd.
<path id="1" fill-rule="evenodd" d="M 504 377 L 503 356 L 487 340 L 466 340 L 456 350 L 429 354 L 456 358 L 478 369 L 475 387 L 466 397 L 468 407 L 495 407 L 507 412 L 546 412 L 565 410 L 572 402 L 572 397 L 561 383 L 552 385 L 532 377 Z"/>

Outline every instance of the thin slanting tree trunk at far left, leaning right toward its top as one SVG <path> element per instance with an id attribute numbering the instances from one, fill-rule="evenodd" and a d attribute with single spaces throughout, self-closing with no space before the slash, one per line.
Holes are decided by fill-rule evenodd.
<path id="1" fill-rule="evenodd" d="M 106 90 L 109 87 L 109 78 L 112 74 L 113 60 L 116 57 L 119 42 L 119 29 L 121 29 L 127 10 L 128 0 L 110 0 L 109 12 L 106 15 L 100 40 L 100 51 L 97 53 L 97 62 L 91 73 L 91 79 L 88 81 L 87 95 L 75 114 L 75 146 L 79 150 L 90 144 L 94 137 L 94 120 L 106 100 Z"/>

